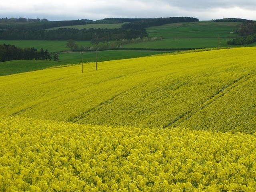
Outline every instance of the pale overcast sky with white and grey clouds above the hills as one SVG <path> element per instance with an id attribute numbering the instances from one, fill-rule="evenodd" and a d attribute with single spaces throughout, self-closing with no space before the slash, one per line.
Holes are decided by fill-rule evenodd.
<path id="1" fill-rule="evenodd" d="M 58 21 L 176 16 L 256 20 L 256 0 L 0 0 L 0 18 Z"/>

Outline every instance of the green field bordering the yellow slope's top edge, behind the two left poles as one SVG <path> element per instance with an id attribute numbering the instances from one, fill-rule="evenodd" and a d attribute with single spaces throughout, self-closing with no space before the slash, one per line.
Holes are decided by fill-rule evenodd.
<path id="1" fill-rule="evenodd" d="M 150 56 L 155 54 L 166 53 L 166 51 L 143 51 L 143 50 L 107 50 L 96 52 L 83 52 L 83 63 L 88 62 L 120 60 L 127 58 L 137 58 Z M 14 60 L 0 62 L 0 76 L 36 71 L 52 66 L 76 65 L 82 63 L 82 55 L 80 52 L 61 52 L 59 54 L 60 61 L 38 61 L 38 60 Z"/>

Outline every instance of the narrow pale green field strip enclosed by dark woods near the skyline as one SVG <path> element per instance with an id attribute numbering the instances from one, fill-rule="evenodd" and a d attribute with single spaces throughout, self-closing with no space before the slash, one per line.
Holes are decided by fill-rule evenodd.
<path id="1" fill-rule="evenodd" d="M 72 29 L 90 29 L 90 28 L 94 28 L 94 29 L 116 29 L 116 28 L 121 28 L 121 26 L 124 23 L 113 23 L 113 24 L 86 24 L 86 25 L 73 25 L 73 26 L 62 26 L 62 27 L 53 27 L 53 28 L 49 28 L 48 30 L 54 30 L 54 29 L 58 29 L 58 28 L 72 28 Z"/>

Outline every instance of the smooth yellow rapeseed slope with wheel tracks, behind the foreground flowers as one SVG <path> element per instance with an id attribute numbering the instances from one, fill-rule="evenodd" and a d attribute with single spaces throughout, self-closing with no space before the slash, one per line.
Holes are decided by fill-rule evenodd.
<path id="1" fill-rule="evenodd" d="M 256 48 L 50 68 L 0 77 L 0 114 L 79 124 L 254 133 Z"/>

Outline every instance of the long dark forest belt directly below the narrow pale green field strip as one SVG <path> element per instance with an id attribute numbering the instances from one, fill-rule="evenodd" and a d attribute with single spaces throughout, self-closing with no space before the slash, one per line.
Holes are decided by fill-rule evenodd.
<path id="1" fill-rule="evenodd" d="M 0 30 L 0 37 L 4 40 L 93 40 L 109 41 L 119 39 L 143 38 L 148 36 L 145 29 L 72 29 L 58 30 Z"/>

